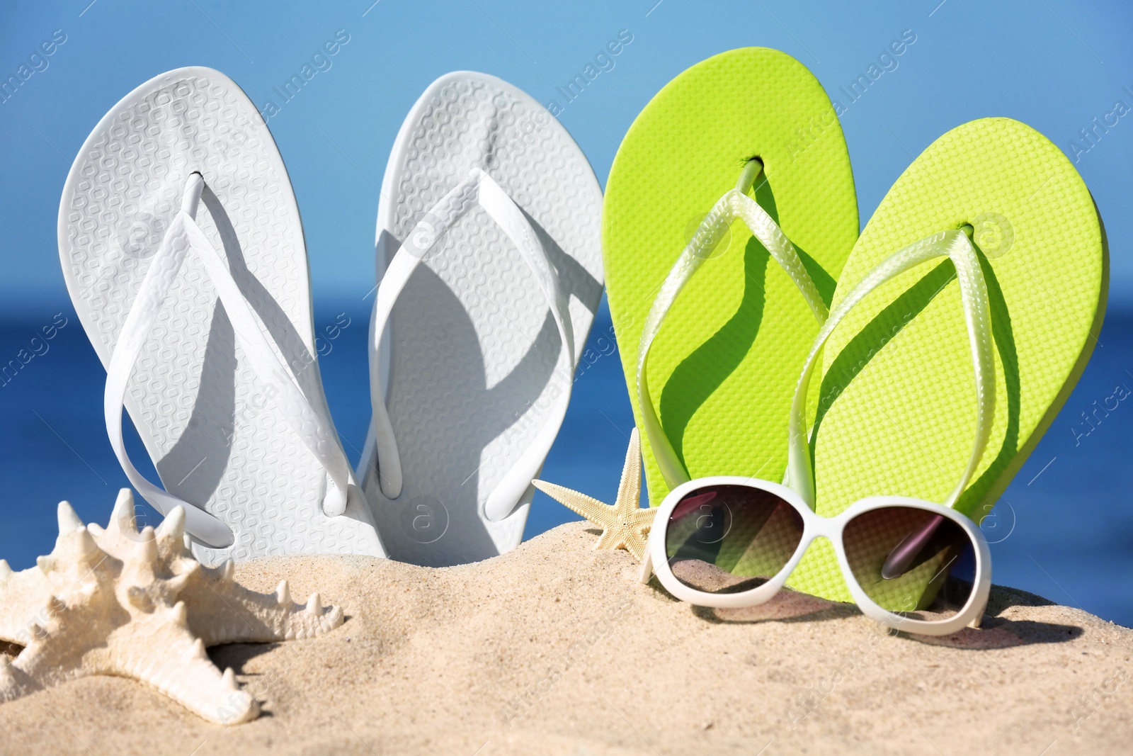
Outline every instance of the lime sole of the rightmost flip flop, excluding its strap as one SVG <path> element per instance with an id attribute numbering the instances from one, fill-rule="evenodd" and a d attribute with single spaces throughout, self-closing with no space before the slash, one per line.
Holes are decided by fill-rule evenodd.
<path id="1" fill-rule="evenodd" d="M 979 521 L 1085 367 L 1109 265 L 1093 199 L 1065 155 L 1029 126 L 986 118 L 942 136 L 897 179 L 854 245 L 833 306 L 895 250 L 963 228 L 979 252 L 995 340 L 989 443 L 953 504 Z M 868 295 L 833 331 L 821 364 L 811 405 L 816 511 L 832 517 L 879 494 L 951 500 L 980 407 L 952 262 L 920 265 Z M 851 601 L 829 542 L 812 544 L 787 584 Z"/>

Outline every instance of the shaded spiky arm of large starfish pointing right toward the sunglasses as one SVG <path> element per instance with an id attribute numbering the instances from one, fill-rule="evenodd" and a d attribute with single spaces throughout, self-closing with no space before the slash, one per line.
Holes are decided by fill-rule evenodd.
<path id="1" fill-rule="evenodd" d="M 206 646 L 314 638 L 344 620 L 342 608 L 324 609 L 318 594 L 304 605 L 293 603 L 282 585 L 274 594 L 249 591 L 227 566 L 197 567 L 180 597 L 189 610 L 189 629 Z"/>

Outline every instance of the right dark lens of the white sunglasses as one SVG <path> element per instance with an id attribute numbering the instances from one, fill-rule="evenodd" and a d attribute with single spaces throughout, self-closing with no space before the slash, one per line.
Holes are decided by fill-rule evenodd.
<path id="1" fill-rule="evenodd" d="M 914 507 L 885 507 L 846 523 L 850 570 L 881 609 L 923 621 L 945 620 L 972 595 L 976 549 L 962 527 Z"/>

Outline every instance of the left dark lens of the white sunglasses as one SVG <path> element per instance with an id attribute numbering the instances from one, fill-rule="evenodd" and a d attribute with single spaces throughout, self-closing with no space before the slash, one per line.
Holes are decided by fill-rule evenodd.
<path id="1" fill-rule="evenodd" d="M 802 540 L 785 500 L 746 485 L 697 489 L 673 509 L 665 553 L 678 580 L 705 593 L 750 591 L 776 575 Z"/>

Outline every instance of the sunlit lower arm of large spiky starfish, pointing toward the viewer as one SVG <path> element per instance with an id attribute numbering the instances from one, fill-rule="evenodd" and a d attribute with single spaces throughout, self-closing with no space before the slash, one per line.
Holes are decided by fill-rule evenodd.
<path id="1" fill-rule="evenodd" d="M 135 619 L 138 622 L 138 619 Z M 259 705 L 240 690 L 231 670 L 223 674 L 208 660 L 204 644 L 189 632 L 185 605 L 162 608 L 139 622 L 148 626 L 146 643 L 112 639 L 118 647 L 108 673 L 145 682 L 215 724 L 256 719 Z"/>

